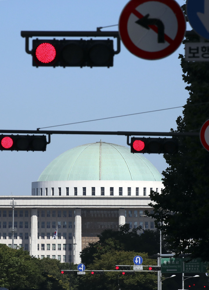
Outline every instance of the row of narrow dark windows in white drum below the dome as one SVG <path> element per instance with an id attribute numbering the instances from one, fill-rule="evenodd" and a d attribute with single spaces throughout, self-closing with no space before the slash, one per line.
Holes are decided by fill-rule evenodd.
<path id="1" fill-rule="evenodd" d="M 39 191 L 40 190 L 40 191 Z M 118 194 L 121 196 L 123 195 L 123 188 L 122 187 L 119 187 L 118 190 Z M 149 193 L 150 191 L 152 191 L 153 188 L 150 187 L 150 190 L 149 190 Z M 158 188 L 156 188 L 156 191 L 158 192 Z M 36 188 L 36 194 L 35 194 L 35 188 L 32 189 L 32 195 L 39 195 L 39 192 L 40 192 L 40 195 L 46 195 L 48 196 L 48 188 L 46 187 L 45 188 L 45 193 L 43 194 L 43 189 L 42 188 Z M 51 187 L 51 194 L 50 195 L 54 195 L 55 193 L 55 190 L 54 190 L 54 187 Z M 87 191 L 86 191 L 86 187 L 83 187 L 82 188 L 82 194 L 83 195 L 86 195 Z M 108 193 L 110 196 L 113 196 L 114 195 L 114 188 L 113 187 L 110 187 L 109 189 L 109 193 Z M 128 187 L 127 188 L 127 194 L 128 195 L 136 195 L 138 196 L 139 195 L 139 187 L 136 187 L 136 190 L 134 191 L 134 193 L 132 192 L 131 194 L 131 187 Z M 58 195 L 61 196 L 62 195 L 62 191 L 61 191 L 61 187 L 58 187 Z M 66 196 L 69 196 L 69 187 L 66 187 L 65 189 L 65 195 Z M 78 187 L 74 187 L 74 195 L 78 195 Z M 95 195 L 95 187 L 91 187 L 91 195 L 94 196 Z M 105 187 L 100 187 L 100 195 L 105 195 Z M 144 187 L 143 188 L 143 195 L 146 196 L 147 195 L 147 188 Z"/>

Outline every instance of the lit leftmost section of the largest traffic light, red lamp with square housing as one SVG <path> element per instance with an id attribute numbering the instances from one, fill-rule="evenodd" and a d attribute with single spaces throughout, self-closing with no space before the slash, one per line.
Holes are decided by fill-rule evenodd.
<path id="1" fill-rule="evenodd" d="M 33 66 L 55 67 L 59 65 L 59 40 L 33 40 Z"/>

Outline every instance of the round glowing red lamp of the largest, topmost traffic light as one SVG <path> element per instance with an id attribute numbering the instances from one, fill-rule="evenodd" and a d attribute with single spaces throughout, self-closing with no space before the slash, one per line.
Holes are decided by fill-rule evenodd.
<path id="1" fill-rule="evenodd" d="M 40 62 L 49 63 L 55 59 L 56 49 L 51 43 L 41 43 L 36 49 L 36 57 Z"/>

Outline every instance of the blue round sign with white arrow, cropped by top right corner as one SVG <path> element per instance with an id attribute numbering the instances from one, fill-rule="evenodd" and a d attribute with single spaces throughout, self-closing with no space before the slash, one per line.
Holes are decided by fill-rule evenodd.
<path id="1" fill-rule="evenodd" d="M 200 36 L 209 39 L 209 1 L 187 0 L 186 10 L 192 28 Z"/>

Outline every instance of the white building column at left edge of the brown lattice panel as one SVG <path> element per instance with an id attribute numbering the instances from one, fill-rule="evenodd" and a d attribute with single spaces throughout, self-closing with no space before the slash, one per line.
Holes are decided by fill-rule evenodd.
<path id="1" fill-rule="evenodd" d="M 75 209 L 75 252 L 74 264 L 80 264 L 80 252 L 82 250 L 81 240 L 81 209 Z"/>

